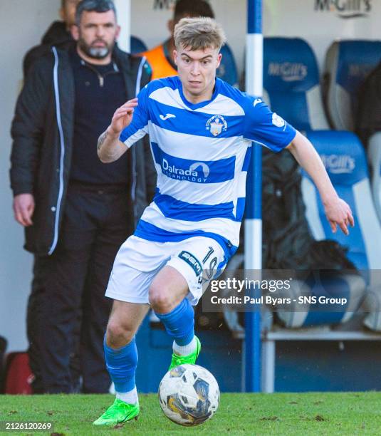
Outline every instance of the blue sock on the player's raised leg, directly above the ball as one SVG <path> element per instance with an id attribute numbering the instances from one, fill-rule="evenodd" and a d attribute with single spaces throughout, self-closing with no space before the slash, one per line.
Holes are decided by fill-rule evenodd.
<path id="1" fill-rule="evenodd" d="M 179 346 L 186 346 L 194 337 L 194 310 L 187 299 L 169 313 L 156 313 L 165 330 Z"/>

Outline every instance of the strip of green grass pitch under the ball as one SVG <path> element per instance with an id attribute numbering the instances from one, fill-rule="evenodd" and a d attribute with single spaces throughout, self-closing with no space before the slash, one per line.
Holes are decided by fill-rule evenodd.
<path id="1" fill-rule="evenodd" d="M 94 427 L 91 422 L 112 402 L 111 395 L 1 395 L 0 421 L 53 422 L 55 435 L 75 436 L 381 435 L 381 393 L 376 392 L 223 394 L 216 415 L 193 428 L 167 420 L 156 395 L 140 395 L 137 421 Z"/>

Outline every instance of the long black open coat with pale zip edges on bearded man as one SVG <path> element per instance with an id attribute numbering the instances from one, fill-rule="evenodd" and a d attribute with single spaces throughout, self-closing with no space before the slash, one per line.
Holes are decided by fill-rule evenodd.
<path id="1" fill-rule="evenodd" d="M 134 98 L 150 81 L 150 66 L 116 46 L 113 61 L 123 75 L 128 99 Z M 71 170 L 74 105 L 68 51 L 52 47 L 28 71 L 11 128 L 11 189 L 14 195 L 31 193 L 35 198 L 24 247 L 39 255 L 52 254 L 58 242 Z M 147 204 L 147 180 L 155 177 L 147 143 L 139 142 L 129 151 L 128 170 L 135 223 Z"/>

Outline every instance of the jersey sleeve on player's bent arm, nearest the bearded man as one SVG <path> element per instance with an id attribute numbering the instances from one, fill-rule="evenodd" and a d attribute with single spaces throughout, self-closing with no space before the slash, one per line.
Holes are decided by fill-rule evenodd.
<path id="1" fill-rule="evenodd" d="M 148 132 L 148 120 L 150 113 L 148 111 L 148 85 L 137 94 L 137 107 L 132 116 L 132 122 L 120 133 L 119 140 L 124 142 L 127 147 L 135 144 Z"/>

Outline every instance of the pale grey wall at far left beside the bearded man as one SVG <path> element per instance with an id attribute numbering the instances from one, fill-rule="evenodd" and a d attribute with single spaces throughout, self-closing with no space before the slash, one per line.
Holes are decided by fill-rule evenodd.
<path id="1" fill-rule="evenodd" d="M 26 348 L 26 299 L 32 256 L 22 249 L 23 229 L 14 221 L 9 188 L 10 127 L 21 88 L 24 53 L 41 40 L 58 15 L 59 0 L 1 0 L 0 100 L 0 335 L 9 351 Z"/>

